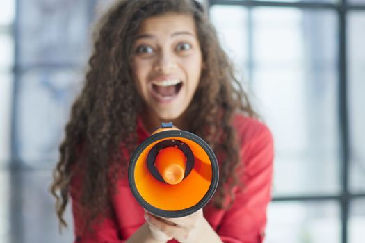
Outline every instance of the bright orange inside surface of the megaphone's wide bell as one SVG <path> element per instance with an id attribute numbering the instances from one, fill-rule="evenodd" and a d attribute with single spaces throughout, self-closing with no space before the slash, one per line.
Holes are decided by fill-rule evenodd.
<path id="1" fill-rule="evenodd" d="M 158 140 L 149 144 L 140 153 L 134 169 L 134 178 L 138 193 L 149 205 L 161 210 L 183 210 L 195 206 L 206 195 L 212 183 L 213 170 L 211 160 L 202 146 L 184 137 L 170 137 L 169 139 L 181 140 L 181 142 L 188 144 L 191 151 L 193 151 L 194 167 L 190 171 L 190 174 L 186 178 L 183 177 L 184 179 L 176 185 L 161 182 L 154 178 L 147 168 L 147 155 L 154 145 L 162 141 Z M 163 153 L 165 152 L 167 153 L 167 151 L 163 151 Z M 161 156 L 163 153 L 161 153 Z M 185 158 L 182 161 L 185 161 Z M 154 162 L 156 167 L 159 167 L 157 166 L 159 162 L 156 162 L 156 160 Z M 163 169 L 157 169 L 157 171 L 161 173 Z"/>

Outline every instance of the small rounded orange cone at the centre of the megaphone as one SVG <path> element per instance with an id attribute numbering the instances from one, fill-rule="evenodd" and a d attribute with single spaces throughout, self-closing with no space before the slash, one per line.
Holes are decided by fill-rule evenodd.
<path id="1" fill-rule="evenodd" d="M 161 149 L 155 162 L 157 171 L 166 183 L 176 185 L 184 179 L 186 157 L 177 147 Z"/>

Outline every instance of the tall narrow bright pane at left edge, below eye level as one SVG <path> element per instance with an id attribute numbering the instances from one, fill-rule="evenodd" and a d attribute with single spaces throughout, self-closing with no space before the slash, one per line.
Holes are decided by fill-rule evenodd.
<path id="1" fill-rule="evenodd" d="M 10 160 L 12 84 L 13 74 L 0 72 L 0 168 L 8 165 Z"/>

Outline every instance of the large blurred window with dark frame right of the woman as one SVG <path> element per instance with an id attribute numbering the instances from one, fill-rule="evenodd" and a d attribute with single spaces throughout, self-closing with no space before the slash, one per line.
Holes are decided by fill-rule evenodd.
<path id="1" fill-rule="evenodd" d="M 360 242 L 365 1 L 208 2 L 274 135 L 266 242 Z"/>

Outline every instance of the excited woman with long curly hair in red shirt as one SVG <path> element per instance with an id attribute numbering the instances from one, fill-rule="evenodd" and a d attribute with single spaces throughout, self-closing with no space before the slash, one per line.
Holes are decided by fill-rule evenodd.
<path id="1" fill-rule="evenodd" d="M 273 141 L 255 117 L 200 3 L 117 1 L 102 19 L 51 192 L 75 242 L 262 242 Z M 177 219 L 145 212 L 129 156 L 162 121 L 202 137 L 220 165 L 215 196 Z"/>

